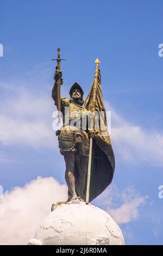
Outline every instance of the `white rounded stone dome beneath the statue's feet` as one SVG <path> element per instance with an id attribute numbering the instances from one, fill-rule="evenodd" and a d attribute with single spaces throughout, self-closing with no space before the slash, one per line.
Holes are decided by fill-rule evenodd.
<path id="1" fill-rule="evenodd" d="M 34 239 L 41 245 L 124 245 L 122 231 L 111 216 L 79 200 L 61 204 L 48 214 Z"/>

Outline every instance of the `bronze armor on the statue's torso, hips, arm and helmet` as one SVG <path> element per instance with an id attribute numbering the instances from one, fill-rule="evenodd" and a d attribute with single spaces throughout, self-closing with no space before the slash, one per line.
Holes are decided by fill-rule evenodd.
<path id="1" fill-rule="evenodd" d="M 70 94 L 75 86 L 81 88 L 79 84 L 74 83 L 70 89 Z M 52 97 L 55 105 L 57 105 L 57 83 L 54 84 Z M 76 155 L 89 156 L 89 136 L 87 127 L 89 112 L 86 108 L 77 104 L 77 102 L 72 99 L 68 100 L 66 97 L 61 97 L 61 112 L 63 126 L 56 132 L 60 153 L 64 155 L 67 151 L 73 151 Z"/>

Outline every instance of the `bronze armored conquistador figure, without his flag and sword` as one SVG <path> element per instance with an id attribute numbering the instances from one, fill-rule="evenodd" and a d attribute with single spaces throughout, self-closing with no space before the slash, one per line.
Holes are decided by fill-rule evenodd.
<path id="1" fill-rule="evenodd" d="M 55 83 L 52 89 L 55 105 L 58 102 L 57 81 L 61 76 L 62 72 L 56 70 L 54 75 Z M 64 155 L 66 163 L 65 179 L 68 185 L 68 200 L 76 197 L 81 197 L 85 200 L 84 189 L 89 156 L 89 131 L 82 130 L 82 127 L 78 126 L 78 123 L 80 126 L 82 125 L 83 115 L 87 115 L 86 108 L 82 107 L 84 103 L 82 87 L 78 83 L 74 83 L 70 89 L 70 100 L 66 97 L 61 97 L 60 102 L 64 125 L 60 131 L 57 131 L 57 135 L 60 153 Z M 75 168 L 77 172 L 74 172 Z"/>

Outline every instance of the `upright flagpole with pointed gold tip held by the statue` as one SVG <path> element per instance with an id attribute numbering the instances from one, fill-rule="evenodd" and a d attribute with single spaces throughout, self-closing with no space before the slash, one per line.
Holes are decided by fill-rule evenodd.
<path id="1" fill-rule="evenodd" d="M 98 77 L 98 69 L 99 69 L 99 59 L 97 58 L 95 60 L 96 63 L 96 71 L 95 71 L 95 82 L 93 86 L 93 99 L 92 99 L 92 125 L 91 125 L 91 131 L 95 130 L 95 110 L 96 110 L 96 93 L 97 93 L 97 77 Z M 89 162 L 88 162 L 88 168 L 87 168 L 87 185 L 86 185 L 86 204 L 89 203 L 90 198 L 90 181 L 91 181 L 91 164 L 92 164 L 92 145 L 93 145 L 93 138 L 90 137 L 90 148 L 89 148 Z"/>

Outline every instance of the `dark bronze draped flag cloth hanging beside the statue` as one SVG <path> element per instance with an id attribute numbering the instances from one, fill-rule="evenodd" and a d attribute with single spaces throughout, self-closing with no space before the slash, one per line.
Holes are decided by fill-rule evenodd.
<path id="1" fill-rule="evenodd" d="M 93 93 L 96 90 L 96 100 L 93 101 Z M 94 94 L 95 95 L 95 94 Z M 91 178 L 90 178 L 90 192 L 89 202 L 101 194 L 107 186 L 110 185 L 114 170 L 115 157 L 112 150 L 110 136 L 106 125 L 106 112 L 103 102 L 101 89 L 101 72 L 98 69 L 97 74 L 93 80 L 91 90 L 86 97 L 84 107 L 87 111 L 95 109 L 101 115 L 101 123 L 99 123 L 98 134 L 93 139 L 92 146 L 92 163 L 91 163 Z M 101 124 L 103 123 L 102 127 Z M 86 187 L 84 191 L 86 195 Z"/>

